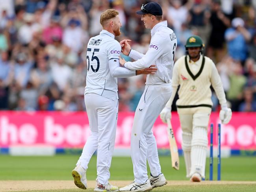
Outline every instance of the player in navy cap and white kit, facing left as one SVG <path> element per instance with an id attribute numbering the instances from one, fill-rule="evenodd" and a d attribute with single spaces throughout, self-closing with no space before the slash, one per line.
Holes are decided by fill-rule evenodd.
<path id="1" fill-rule="evenodd" d="M 154 122 L 171 96 L 174 53 L 176 36 L 167 27 L 167 21 L 162 21 L 162 9 L 156 2 L 143 5 L 140 11 L 141 20 L 146 28 L 151 29 L 151 41 L 147 53 L 141 54 L 132 50 L 129 40 L 121 41 L 122 53 L 137 60 L 120 63 L 130 70 L 147 68 L 154 64 L 157 72 L 147 76 L 145 90 L 137 109 L 131 133 L 131 155 L 134 168 L 134 182 L 119 188 L 120 191 L 147 191 L 167 184 L 161 172 L 156 139 L 152 132 Z M 147 175 L 147 160 L 151 177 Z"/>

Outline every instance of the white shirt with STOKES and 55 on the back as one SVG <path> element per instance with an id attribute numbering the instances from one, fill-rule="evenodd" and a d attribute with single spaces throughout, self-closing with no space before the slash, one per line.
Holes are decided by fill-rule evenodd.
<path id="1" fill-rule="evenodd" d="M 96 93 L 114 100 L 117 96 L 117 77 L 135 76 L 135 70 L 119 65 L 121 46 L 115 36 L 102 30 L 87 45 L 86 93 Z"/>

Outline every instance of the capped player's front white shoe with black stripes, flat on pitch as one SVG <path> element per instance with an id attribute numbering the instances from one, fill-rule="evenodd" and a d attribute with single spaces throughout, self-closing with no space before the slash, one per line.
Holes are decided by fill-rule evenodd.
<path id="1" fill-rule="evenodd" d="M 152 190 L 152 186 L 150 185 L 149 179 L 145 183 L 136 183 L 135 181 L 126 185 L 122 188 L 119 188 L 119 191 L 122 192 L 135 192 L 135 191 L 150 191 Z"/>

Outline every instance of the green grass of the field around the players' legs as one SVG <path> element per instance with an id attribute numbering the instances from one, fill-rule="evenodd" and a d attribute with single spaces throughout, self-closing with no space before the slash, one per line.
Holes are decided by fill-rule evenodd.
<path id="1" fill-rule="evenodd" d="M 0 180 L 72 180 L 71 171 L 78 155 L 55 155 L 53 157 L 12 157 L 0 155 Z M 184 158 L 180 157 L 180 170 L 171 167 L 171 157 L 161 156 L 162 172 L 167 180 L 188 180 L 185 175 Z M 209 159 L 206 160 L 206 180 L 209 179 Z M 214 159 L 213 179 L 217 179 L 217 159 Z M 110 180 L 133 180 L 132 160 L 130 157 L 113 157 Z M 150 171 L 148 169 L 148 174 Z M 96 179 L 96 157 L 93 156 L 87 169 L 87 179 Z M 256 181 L 255 157 L 230 157 L 221 159 L 221 180 L 223 181 Z M 204 181 L 202 181 L 204 182 Z M 93 191 L 94 186 L 89 186 Z M 221 189 L 221 190 L 220 190 Z M 1 191 L 1 190 L 0 190 Z M 33 190 L 29 190 L 33 192 Z M 69 190 L 37 190 L 37 192 L 70 191 L 79 192 L 80 189 Z M 244 191 L 255 192 L 256 184 L 232 185 L 175 185 L 163 186 L 153 191 L 173 192 L 203 192 L 203 191 Z"/>

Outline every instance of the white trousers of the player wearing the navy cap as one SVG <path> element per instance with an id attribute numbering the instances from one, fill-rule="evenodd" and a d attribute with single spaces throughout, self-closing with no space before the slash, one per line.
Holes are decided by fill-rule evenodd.
<path id="1" fill-rule="evenodd" d="M 134 181 L 145 183 L 148 179 L 147 160 L 153 176 L 161 174 L 156 139 L 152 132 L 154 122 L 171 97 L 171 84 L 146 85 L 135 111 L 131 133 L 131 155 Z"/>

